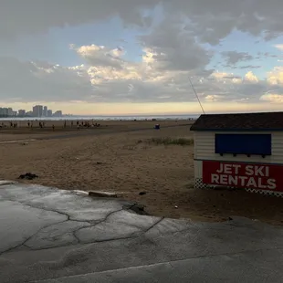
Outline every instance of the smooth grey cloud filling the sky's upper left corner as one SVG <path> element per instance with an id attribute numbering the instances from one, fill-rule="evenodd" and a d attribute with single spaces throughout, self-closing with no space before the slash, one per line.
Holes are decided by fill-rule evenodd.
<path id="1" fill-rule="evenodd" d="M 1 0 L 0 38 L 40 34 L 52 27 L 78 26 L 112 16 L 120 16 L 128 25 L 148 26 L 142 10 L 152 6 L 154 0 Z"/>

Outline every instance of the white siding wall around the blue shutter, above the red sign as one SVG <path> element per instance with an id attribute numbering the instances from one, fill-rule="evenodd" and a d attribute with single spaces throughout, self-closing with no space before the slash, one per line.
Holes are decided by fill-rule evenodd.
<path id="1" fill-rule="evenodd" d="M 264 132 L 272 134 L 272 155 L 262 158 L 261 156 L 247 157 L 246 155 L 215 154 L 215 133 L 227 133 L 223 131 L 194 131 L 194 159 L 215 160 L 228 162 L 263 162 L 263 163 L 283 163 L 283 131 Z M 246 133 L 242 131 L 231 133 Z M 253 133 L 263 133 L 253 132 Z M 195 162 L 195 165 L 200 164 Z"/>

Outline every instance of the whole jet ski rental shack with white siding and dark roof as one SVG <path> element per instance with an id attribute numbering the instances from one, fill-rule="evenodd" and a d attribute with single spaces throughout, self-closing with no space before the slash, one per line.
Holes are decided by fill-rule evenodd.
<path id="1" fill-rule="evenodd" d="M 194 185 L 283 196 L 283 112 L 201 115 L 194 131 Z"/>

